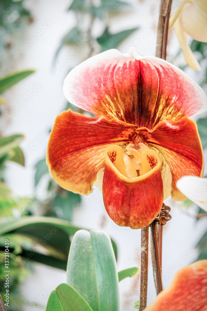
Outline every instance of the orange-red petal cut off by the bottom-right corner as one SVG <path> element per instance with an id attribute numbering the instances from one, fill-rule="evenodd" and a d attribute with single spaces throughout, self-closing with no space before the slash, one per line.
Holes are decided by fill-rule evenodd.
<path id="1" fill-rule="evenodd" d="M 207 260 L 180 269 L 172 284 L 144 311 L 206 311 Z"/>

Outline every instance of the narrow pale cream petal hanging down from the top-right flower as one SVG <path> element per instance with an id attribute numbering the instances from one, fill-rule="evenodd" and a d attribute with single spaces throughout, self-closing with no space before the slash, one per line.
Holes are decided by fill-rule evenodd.
<path id="1" fill-rule="evenodd" d="M 201 70 L 200 65 L 197 59 L 195 58 L 195 56 L 193 55 L 193 52 L 191 51 L 191 48 L 188 44 L 187 33 L 185 32 L 185 30 L 183 30 L 180 24 L 179 18 L 174 24 L 174 29 L 175 29 L 175 33 L 177 35 L 180 47 L 182 49 L 182 53 L 185 57 L 186 63 L 194 70 L 200 71 Z"/>

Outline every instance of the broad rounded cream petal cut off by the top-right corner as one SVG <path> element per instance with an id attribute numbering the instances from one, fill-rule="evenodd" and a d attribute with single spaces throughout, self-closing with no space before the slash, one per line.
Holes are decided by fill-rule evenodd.
<path id="1" fill-rule="evenodd" d="M 179 17 L 182 28 L 193 39 L 207 42 L 207 2 L 194 0 L 184 6 Z"/>

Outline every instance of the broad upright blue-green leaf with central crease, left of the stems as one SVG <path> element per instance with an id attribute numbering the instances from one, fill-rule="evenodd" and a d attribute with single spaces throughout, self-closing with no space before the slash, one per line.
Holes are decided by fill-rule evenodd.
<path id="1" fill-rule="evenodd" d="M 80 230 L 74 235 L 66 283 L 83 296 L 93 311 L 119 310 L 116 261 L 105 232 Z"/>

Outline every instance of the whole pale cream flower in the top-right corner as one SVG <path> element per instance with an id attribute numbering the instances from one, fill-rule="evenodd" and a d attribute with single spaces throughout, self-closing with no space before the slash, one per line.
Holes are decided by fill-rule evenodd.
<path id="1" fill-rule="evenodd" d="M 187 35 L 201 42 L 207 42 L 207 1 L 183 0 L 169 21 L 173 26 L 187 64 L 195 70 L 201 70 L 198 61 L 188 44 Z"/>

